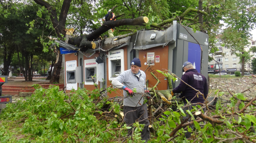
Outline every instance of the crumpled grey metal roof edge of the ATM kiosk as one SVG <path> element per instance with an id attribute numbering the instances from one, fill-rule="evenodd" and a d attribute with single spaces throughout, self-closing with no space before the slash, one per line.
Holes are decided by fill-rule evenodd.
<path id="1" fill-rule="evenodd" d="M 78 51 L 86 57 L 90 57 L 96 51 L 116 50 L 126 45 L 129 45 L 130 42 L 132 42 L 133 44 L 135 43 L 134 49 L 138 50 L 149 49 L 158 46 L 167 46 L 175 43 L 176 39 L 182 39 L 185 41 L 197 43 L 197 41 L 195 41 L 190 34 L 192 34 L 193 37 L 197 38 L 197 41 L 200 43 L 200 45 L 208 46 L 208 34 L 200 31 L 194 32 L 193 29 L 182 26 L 181 24 L 177 24 L 176 21 L 173 21 L 173 25 L 164 31 L 139 30 L 137 31 L 137 34 L 116 41 L 114 39 L 118 38 L 119 36 L 95 41 L 96 49 L 88 49 L 86 52 L 81 52 L 79 50 Z M 63 41 L 55 40 L 55 42 L 59 43 L 61 47 L 64 47 L 66 49 L 79 49 L 79 47 L 67 44 Z"/>

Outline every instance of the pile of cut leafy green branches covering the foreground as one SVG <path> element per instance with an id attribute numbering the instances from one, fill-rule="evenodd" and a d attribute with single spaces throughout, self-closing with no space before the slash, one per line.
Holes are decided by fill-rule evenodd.
<path id="1" fill-rule="evenodd" d="M 177 78 L 170 71 L 161 72 L 170 79 Z M 156 78 L 157 79 L 157 78 Z M 173 78 L 174 79 L 174 78 Z M 106 92 L 115 89 L 72 90 L 71 93 L 60 91 L 58 86 L 43 89 L 36 86 L 36 91 L 15 104 L 6 104 L 0 114 L 1 143 L 18 142 L 143 142 L 140 131 L 143 125 L 134 123 L 133 138 L 128 138 L 127 127 L 122 113 L 122 99 L 108 98 Z M 209 95 L 229 99 L 222 104 L 219 100 L 215 106 L 211 102 L 201 103 L 191 111 L 183 110 L 180 99 L 167 96 L 169 91 L 150 89 L 147 101 L 151 124 L 151 139 L 155 142 L 246 142 L 256 141 L 256 96 L 245 99 L 242 93 L 230 92 L 228 95 L 216 90 Z M 248 91 L 246 91 L 248 92 Z M 162 95 L 161 95 L 162 94 Z M 148 99 L 148 95 L 143 95 Z M 162 97 L 167 101 L 164 101 Z M 198 96 L 202 96 L 200 93 Z M 143 97 L 144 98 L 144 97 Z M 195 98 L 197 98 L 195 96 Z M 207 99 L 205 99 L 207 100 Z M 170 102 L 170 103 L 169 103 Z M 206 112 L 202 113 L 202 108 Z M 185 112 L 192 121 L 183 120 Z M 194 118 L 193 115 L 197 115 Z M 195 128 L 191 129 L 190 125 Z M 185 139 L 184 129 L 192 134 Z"/>

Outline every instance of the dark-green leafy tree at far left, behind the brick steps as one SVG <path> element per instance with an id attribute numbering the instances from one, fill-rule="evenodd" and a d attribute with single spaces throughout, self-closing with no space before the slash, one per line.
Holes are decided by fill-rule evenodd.
<path id="1" fill-rule="evenodd" d="M 3 37 L 8 37 L 8 40 L 12 42 L 8 50 L 12 52 L 16 50 L 19 67 L 25 77 L 25 81 L 32 81 L 33 56 L 42 53 L 43 49 L 41 43 L 36 40 L 42 32 L 49 34 L 52 29 L 44 29 L 43 25 L 45 23 L 40 19 L 34 23 L 34 27 L 28 26 L 28 23 L 37 18 L 36 11 L 38 6 L 33 2 L 6 2 L 2 5 L 1 8 L 5 10 L 5 14 L 0 15 L 3 19 L 1 22 L 4 21 L 3 25 L 1 25 L 3 31 L 1 34 Z M 28 32 L 28 30 L 30 31 Z"/>

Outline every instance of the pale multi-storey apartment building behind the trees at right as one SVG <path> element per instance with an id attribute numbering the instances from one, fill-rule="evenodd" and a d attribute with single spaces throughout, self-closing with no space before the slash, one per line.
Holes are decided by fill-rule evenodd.
<path id="1" fill-rule="evenodd" d="M 253 41 L 252 39 L 249 39 L 249 42 L 250 44 L 245 48 L 246 51 L 249 51 L 252 46 L 256 46 L 255 45 L 256 42 Z M 218 47 L 219 49 L 218 53 L 225 53 L 225 55 L 222 56 L 221 54 L 220 55 L 216 54 L 212 56 L 211 54 L 209 54 L 209 56 L 212 56 L 215 59 L 215 61 L 219 62 L 219 64 L 214 60 L 208 62 L 208 73 L 215 74 L 215 73 L 218 73 L 220 70 L 221 72 L 234 74 L 235 71 L 241 71 L 242 64 L 239 63 L 240 62 L 239 57 L 237 57 L 234 54 L 231 55 L 231 50 L 227 49 L 226 47 L 222 47 L 221 44 L 222 44 L 221 39 L 217 39 L 215 46 Z M 256 53 L 251 52 L 250 54 L 253 55 L 252 58 L 256 57 Z M 245 63 L 244 72 L 250 72 L 251 70 L 252 70 L 251 64 Z"/>

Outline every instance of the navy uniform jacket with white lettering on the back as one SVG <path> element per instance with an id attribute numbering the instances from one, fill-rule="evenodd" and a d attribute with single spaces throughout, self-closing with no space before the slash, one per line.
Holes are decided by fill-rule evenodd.
<path id="1" fill-rule="evenodd" d="M 199 90 L 201 93 L 204 94 L 204 97 L 206 98 L 208 95 L 208 85 L 207 85 L 207 79 L 202 74 L 198 73 L 196 69 L 189 69 L 186 71 L 185 74 L 182 75 L 181 79 L 186 82 L 188 85 L 193 87 L 196 90 Z M 204 103 L 204 98 L 201 94 L 194 96 L 197 94 L 197 91 L 193 90 L 191 87 L 187 86 L 184 82 L 180 82 L 180 85 L 178 87 L 174 88 L 172 90 L 173 93 L 181 93 L 181 98 L 183 99 L 184 103 L 187 103 L 186 99 L 190 103 Z M 194 98 L 194 99 L 193 99 Z M 192 100 L 193 99 L 193 100 Z M 190 101 L 192 100 L 192 101 Z"/>

